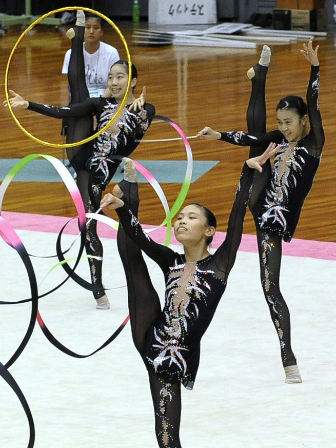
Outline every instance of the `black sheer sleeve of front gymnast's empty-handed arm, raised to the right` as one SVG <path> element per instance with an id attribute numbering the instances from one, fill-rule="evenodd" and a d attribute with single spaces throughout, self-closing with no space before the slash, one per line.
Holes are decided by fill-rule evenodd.
<path id="1" fill-rule="evenodd" d="M 216 266 L 219 271 L 223 273 L 221 277 L 224 281 L 227 280 L 230 270 L 232 269 L 242 240 L 244 219 L 253 182 L 253 174 L 254 169 L 249 168 L 245 163 L 238 188 L 235 192 L 225 240 L 213 255 L 213 260 Z"/>

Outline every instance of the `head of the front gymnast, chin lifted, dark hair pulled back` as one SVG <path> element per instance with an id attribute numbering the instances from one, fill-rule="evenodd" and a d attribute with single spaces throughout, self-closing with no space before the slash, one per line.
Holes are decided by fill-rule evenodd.
<path id="1" fill-rule="evenodd" d="M 202 208 L 191 204 L 184 207 L 177 215 L 174 223 L 175 238 L 184 245 L 207 245 L 207 239 L 215 232 L 215 228 L 207 223 Z"/>

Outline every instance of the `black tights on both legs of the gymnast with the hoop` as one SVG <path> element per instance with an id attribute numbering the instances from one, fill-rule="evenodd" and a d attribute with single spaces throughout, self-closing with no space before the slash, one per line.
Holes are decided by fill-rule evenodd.
<path id="1" fill-rule="evenodd" d="M 83 40 L 85 27 L 74 27 L 75 36 L 71 40 L 71 56 L 68 68 L 68 82 L 71 95 L 71 103 L 80 103 L 89 98 L 89 91 L 85 82 L 85 63 L 83 54 Z M 67 143 L 74 143 L 84 140 L 92 135 L 93 116 L 82 116 L 80 118 L 68 119 L 67 129 Z M 83 145 L 67 148 L 67 155 L 69 162 L 72 159 L 80 158 L 83 155 Z M 84 168 L 76 169 L 76 182 L 80 190 L 85 210 L 89 213 L 94 213 L 100 204 L 102 198 L 102 188 L 93 188 L 92 174 L 89 170 Z M 91 191 L 94 190 L 94 203 Z M 104 187 L 105 188 L 105 187 Z M 100 260 L 88 258 L 90 266 L 91 283 L 96 287 L 93 291 L 95 299 L 104 296 L 105 291 L 102 284 L 102 265 L 103 265 L 103 245 L 97 235 L 97 222 L 92 220 L 86 229 L 85 249 L 87 255 L 100 257 Z"/>

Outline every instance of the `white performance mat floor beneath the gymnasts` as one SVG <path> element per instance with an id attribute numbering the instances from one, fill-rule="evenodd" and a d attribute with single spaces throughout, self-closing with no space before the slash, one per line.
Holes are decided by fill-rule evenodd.
<path id="1" fill-rule="evenodd" d="M 55 234 L 18 230 L 28 251 L 50 255 Z M 65 244 L 73 236 L 64 237 Z M 38 242 L 38 244 L 37 244 Z M 104 239 L 104 283 L 125 284 L 115 240 Z M 36 249 L 35 247 L 38 247 Z M 16 252 L 0 240 L 0 297 L 29 297 Z M 44 253 L 42 253 L 44 251 Z M 55 261 L 34 259 L 38 283 Z M 335 261 L 284 256 L 282 291 L 291 311 L 292 347 L 302 384 L 285 384 L 279 341 L 259 281 L 258 255 L 239 252 L 227 290 L 202 340 L 192 392 L 183 388 L 184 448 L 333 448 L 336 446 L 334 350 Z M 163 276 L 149 261 L 163 296 Z M 86 279 L 87 260 L 78 273 Z M 40 293 L 64 278 L 56 268 Z M 96 310 L 91 293 L 71 280 L 40 300 L 39 310 L 66 346 L 81 354 L 100 346 L 127 316 L 126 288 L 108 292 L 110 310 Z M 30 305 L 0 305 L 0 361 L 5 364 L 26 331 Z M 155 448 L 146 369 L 130 325 L 87 359 L 52 346 L 36 324 L 23 354 L 9 369 L 29 403 L 35 448 Z M 0 378 L 1 448 L 25 448 L 28 422 L 15 394 Z"/>

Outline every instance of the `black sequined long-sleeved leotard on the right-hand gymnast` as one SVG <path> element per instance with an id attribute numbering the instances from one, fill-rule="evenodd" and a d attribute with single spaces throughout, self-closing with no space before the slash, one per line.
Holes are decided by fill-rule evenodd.
<path id="1" fill-rule="evenodd" d="M 221 140 L 234 145 L 267 146 L 274 142 L 281 146 L 274 158 L 270 183 L 252 212 L 261 229 L 276 232 L 287 242 L 297 227 L 304 200 L 321 160 L 324 131 L 319 110 L 319 87 L 319 66 L 311 66 L 307 90 L 310 131 L 292 148 L 279 130 L 263 135 L 221 132 Z"/>

